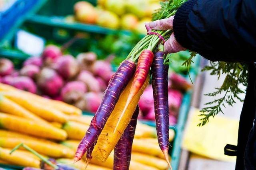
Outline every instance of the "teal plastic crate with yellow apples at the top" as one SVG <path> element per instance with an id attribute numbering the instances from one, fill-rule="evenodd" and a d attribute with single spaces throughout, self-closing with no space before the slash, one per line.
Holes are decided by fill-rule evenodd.
<path id="1" fill-rule="evenodd" d="M 68 15 L 73 15 L 73 6 L 79 0 L 48 0 L 42 8 L 35 14 L 27 18 L 26 23 L 34 25 L 47 25 L 50 27 L 64 28 L 77 31 L 86 31 L 99 34 L 117 34 L 124 33 L 129 35 L 131 31 L 116 30 L 98 25 L 73 22 L 69 23 L 65 20 Z M 97 4 L 96 0 L 86 0 L 93 5 Z M 41 29 L 44 30 L 44 29 Z M 143 35 L 140 35 L 141 37 Z"/>

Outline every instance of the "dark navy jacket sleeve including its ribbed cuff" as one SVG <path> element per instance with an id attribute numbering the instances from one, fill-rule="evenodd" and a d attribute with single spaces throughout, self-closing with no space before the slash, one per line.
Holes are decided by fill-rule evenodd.
<path id="1" fill-rule="evenodd" d="M 188 0 L 173 30 L 182 46 L 212 61 L 256 61 L 256 0 Z"/>

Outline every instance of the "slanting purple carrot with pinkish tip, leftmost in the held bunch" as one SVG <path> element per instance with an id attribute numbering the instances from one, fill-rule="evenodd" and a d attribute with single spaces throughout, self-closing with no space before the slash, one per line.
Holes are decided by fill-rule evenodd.
<path id="1" fill-rule="evenodd" d="M 120 64 L 118 70 L 108 84 L 102 102 L 92 118 L 89 129 L 86 131 L 84 138 L 78 145 L 74 158 L 75 162 L 80 160 L 84 153 L 87 152 L 92 144 L 98 139 L 98 136 L 106 124 L 110 113 L 113 111 L 121 92 L 132 78 L 135 69 L 135 63 L 130 60 L 125 60 Z"/>

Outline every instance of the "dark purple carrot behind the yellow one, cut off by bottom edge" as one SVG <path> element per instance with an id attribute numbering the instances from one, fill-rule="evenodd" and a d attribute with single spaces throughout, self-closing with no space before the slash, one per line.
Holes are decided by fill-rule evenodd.
<path id="1" fill-rule="evenodd" d="M 132 155 L 132 142 L 135 134 L 138 115 L 139 107 L 137 106 L 129 125 L 124 130 L 122 137 L 119 139 L 114 149 L 113 170 L 129 170 Z"/>

